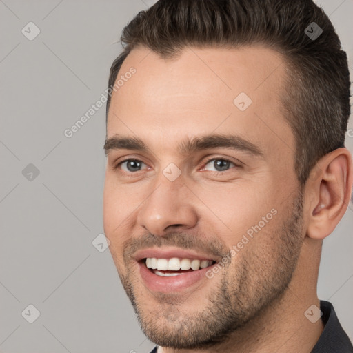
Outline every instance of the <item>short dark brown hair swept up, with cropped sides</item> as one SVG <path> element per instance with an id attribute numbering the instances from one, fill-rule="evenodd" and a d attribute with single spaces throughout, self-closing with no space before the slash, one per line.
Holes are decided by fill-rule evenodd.
<path id="1" fill-rule="evenodd" d="M 323 31 L 316 39 L 305 34 L 313 22 Z M 281 103 L 296 139 L 295 170 L 301 185 L 321 157 L 344 147 L 350 117 L 347 55 L 330 19 L 311 0 L 160 0 L 128 23 L 121 43 L 109 87 L 125 58 L 140 45 L 162 58 L 187 46 L 268 46 L 287 62 Z"/>

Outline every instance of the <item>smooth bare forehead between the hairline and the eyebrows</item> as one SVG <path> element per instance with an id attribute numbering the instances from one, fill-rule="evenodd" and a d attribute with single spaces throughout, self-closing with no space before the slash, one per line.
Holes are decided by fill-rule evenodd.
<path id="1" fill-rule="evenodd" d="M 171 59 L 134 49 L 117 77 L 107 137 L 137 135 L 168 149 L 185 136 L 233 132 L 264 149 L 286 141 L 294 151 L 281 113 L 284 75 L 281 54 L 263 47 L 187 48 Z"/>

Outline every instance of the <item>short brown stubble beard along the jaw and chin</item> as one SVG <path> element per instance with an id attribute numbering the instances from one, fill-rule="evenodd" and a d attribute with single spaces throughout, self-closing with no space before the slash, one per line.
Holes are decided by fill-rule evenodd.
<path id="1" fill-rule="evenodd" d="M 157 345 L 177 350 L 208 349 L 227 341 L 239 327 L 269 305 L 275 305 L 284 295 L 301 252 L 302 221 L 303 197 L 299 192 L 292 215 L 279 225 L 274 236 L 265 234 L 264 230 L 256 234 L 272 238 L 270 253 L 260 254 L 259 247 L 245 245 L 232 262 L 214 276 L 214 279 L 221 276 L 221 280 L 214 283 L 215 288 L 208 294 L 201 312 L 183 310 L 188 296 L 149 292 L 125 263 L 126 275 L 118 271 L 119 276 L 144 334 Z M 251 242 L 256 242 L 256 238 Z M 208 279 L 210 283 L 212 280 Z M 155 296 L 153 308 L 136 288 L 142 288 L 147 296 Z"/>

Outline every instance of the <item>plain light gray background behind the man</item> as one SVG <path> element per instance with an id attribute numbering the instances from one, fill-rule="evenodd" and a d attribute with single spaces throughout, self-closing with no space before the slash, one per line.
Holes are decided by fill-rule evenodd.
<path id="1" fill-rule="evenodd" d="M 352 58 L 353 1 L 316 2 Z M 63 134 L 107 88 L 123 26 L 152 3 L 0 0 L 0 352 L 142 353 L 153 346 L 109 250 L 92 245 L 103 233 L 105 106 L 72 138 Z M 21 33 L 30 21 L 41 31 L 32 41 Z M 30 163 L 39 170 L 31 181 L 22 174 Z M 318 289 L 351 339 L 352 228 L 351 204 L 324 241 Z M 30 304 L 41 313 L 32 324 L 21 316 Z"/>

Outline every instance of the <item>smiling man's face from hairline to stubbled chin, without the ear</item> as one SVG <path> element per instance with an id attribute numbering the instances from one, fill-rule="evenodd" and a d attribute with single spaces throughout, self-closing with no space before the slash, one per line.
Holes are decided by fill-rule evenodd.
<path id="1" fill-rule="evenodd" d="M 208 347 L 279 300 L 299 259 L 295 141 L 279 101 L 285 63 L 260 47 L 166 60 L 139 48 L 118 79 L 131 68 L 112 96 L 107 137 L 145 150 L 108 145 L 105 235 L 148 338 Z"/>

